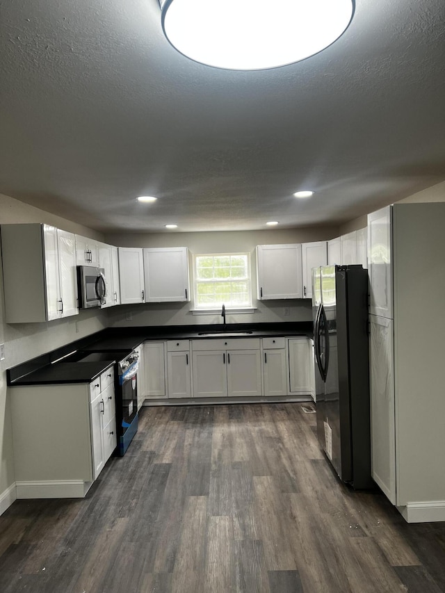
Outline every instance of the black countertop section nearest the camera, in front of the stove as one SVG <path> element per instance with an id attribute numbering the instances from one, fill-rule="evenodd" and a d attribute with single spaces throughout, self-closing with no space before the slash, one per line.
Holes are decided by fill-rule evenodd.
<path id="1" fill-rule="evenodd" d="M 90 383 L 112 364 L 114 364 L 113 357 L 106 362 L 56 362 L 17 378 L 11 385 Z"/>

